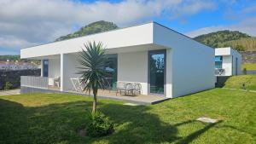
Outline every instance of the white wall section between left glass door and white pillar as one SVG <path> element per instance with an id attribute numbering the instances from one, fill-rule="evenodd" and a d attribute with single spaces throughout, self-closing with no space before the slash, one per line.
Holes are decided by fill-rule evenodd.
<path id="1" fill-rule="evenodd" d="M 60 59 L 49 60 L 48 77 L 49 78 L 61 77 L 61 60 Z"/>

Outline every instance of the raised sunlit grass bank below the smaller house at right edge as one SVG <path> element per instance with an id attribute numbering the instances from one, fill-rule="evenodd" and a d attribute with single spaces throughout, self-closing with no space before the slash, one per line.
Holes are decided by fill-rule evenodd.
<path id="1" fill-rule="evenodd" d="M 256 90 L 256 75 L 232 76 L 224 83 L 224 88 L 242 89 L 242 84 L 246 89 Z"/>

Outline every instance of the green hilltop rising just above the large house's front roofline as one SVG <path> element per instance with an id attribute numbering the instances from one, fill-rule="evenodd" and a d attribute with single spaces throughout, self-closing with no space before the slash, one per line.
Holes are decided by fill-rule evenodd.
<path id="1" fill-rule="evenodd" d="M 87 26 L 81 27 L 78 32 L 73 32 L 72 34 L 68 34 L 67 36 L 59 37 L 55 41 L 61 41 L 61 40 L 70 39 L 73 37 L 82 37 L 82 36 L 90 35 L 93 33 L 107 32 L 117 28 L 119 27 L 115 25 L 113 22 L 100 20 L 100 21 L 90 23 Z"/>

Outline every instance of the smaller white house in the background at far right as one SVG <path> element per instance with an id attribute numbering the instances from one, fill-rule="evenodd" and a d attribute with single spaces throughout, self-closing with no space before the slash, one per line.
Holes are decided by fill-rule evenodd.
<path id="1" fill-rule="evenodd" d="M 241 74 L 241 54 L 235 49 L 215 49 L 215 75 L 232 76 Z"/>

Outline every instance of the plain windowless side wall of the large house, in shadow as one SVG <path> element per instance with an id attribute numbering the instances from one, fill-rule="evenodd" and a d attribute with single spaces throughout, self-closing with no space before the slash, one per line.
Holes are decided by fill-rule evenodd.
<path id="1" fill-rule="evenodd" d="M 214 49 L 157 24 L 154 43 L 172 48 L 172 58 L 166 61 L 171 60 L 166 82 L 172 85 L 172 97 L 214 88 Z"/>

